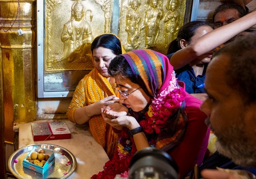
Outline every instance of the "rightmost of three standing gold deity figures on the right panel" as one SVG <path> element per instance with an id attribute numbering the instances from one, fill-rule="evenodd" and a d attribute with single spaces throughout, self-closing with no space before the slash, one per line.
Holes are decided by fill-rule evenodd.
<path id="1" fill-rule="evenodd" d="M 166 7 L 168 12 L 164 17 L 164 34 L 165 34 L 165 48 L 169 43 L 177 37 L 179 30 L 180 13 L 178 11 L 178 1 L 169 0 Z"/>

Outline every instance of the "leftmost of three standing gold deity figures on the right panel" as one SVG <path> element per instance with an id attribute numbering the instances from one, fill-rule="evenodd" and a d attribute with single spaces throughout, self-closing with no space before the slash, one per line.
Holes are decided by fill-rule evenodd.
<path id="1" fill-rule="evenodd" d="M 126 14 L 126 26 L 125 31 L 127 32 L 127 44 L 123 47 L 126 51 L 131 51 L 137 49 L 140 45 L 138 41 L 140 35 L 140 21 L 141 17 L 139 15 L 140 0 L 129 0 L 128 5 L 131 7 Z"/>

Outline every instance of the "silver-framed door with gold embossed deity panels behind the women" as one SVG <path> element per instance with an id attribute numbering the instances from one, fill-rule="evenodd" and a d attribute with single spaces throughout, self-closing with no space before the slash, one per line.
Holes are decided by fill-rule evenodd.
<path id="1" fill-rule="evenodd" d="M 93 68 L 90 46 L 97 35 L 118 35 L 126 51 L 150 48 L 165 54 L 179 27 L 197 19 L 199 0 L 36 3 L 37 97 L 55 98 L 72 97 Z M 149 19 L 153 15 L 155 19 Z"/>

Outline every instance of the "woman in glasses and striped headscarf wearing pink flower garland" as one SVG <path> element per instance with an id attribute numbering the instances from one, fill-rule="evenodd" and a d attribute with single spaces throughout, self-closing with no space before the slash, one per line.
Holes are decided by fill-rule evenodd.
<path id="1" fill-rule="evenodd" d="M 176 161 L 180 178 L 201 164 L 206 152 L 209 129 L 201 101 L 177 84 L 168 58 L 149 49 L 132 50 L 115 57 L 108 73 L 115 77 L 120 100 L 102 109 L 104 120 L 121 133 L 118 151 L 92 178 L 127 176 L 130 160 L 140 149 L 154 146 Z M 123 109 L 123 110 L 122 110 Z M 167 177 L 168 178 L 168 177 Z"/>

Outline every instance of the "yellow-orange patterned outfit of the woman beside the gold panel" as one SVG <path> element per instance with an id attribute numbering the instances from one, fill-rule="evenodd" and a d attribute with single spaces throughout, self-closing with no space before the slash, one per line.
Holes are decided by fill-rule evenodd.
<path id="1" fill-rule="evenodd" d="M 122 52 L 124 52 L 123 48 Z M 119 97 L 114 86 L 115 84 L 110 84 L 107 78 L 94 68 L 78 83 L 67 109 L 68 119 L 76 123 L 74 114 L 77 108 L 93 104 L 111 95 Z M 112 127 L 103 120 L 101 114 L 92 116 L 88 122 L 93 138 L 102 145 L 108 157 L 112 158 L 117 148 L 119 134 L 112 131 Z"/>

